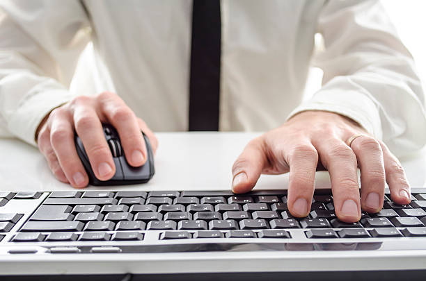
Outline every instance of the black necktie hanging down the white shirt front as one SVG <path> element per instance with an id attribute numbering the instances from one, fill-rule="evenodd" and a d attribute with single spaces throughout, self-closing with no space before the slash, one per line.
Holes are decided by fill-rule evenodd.
<path id="1" fill-rule="evenodd" d="M 220 1 L 194 0 L 189 82 L 189 130 L 219 130 L 220 74 Z"/>

